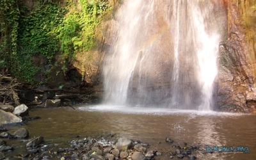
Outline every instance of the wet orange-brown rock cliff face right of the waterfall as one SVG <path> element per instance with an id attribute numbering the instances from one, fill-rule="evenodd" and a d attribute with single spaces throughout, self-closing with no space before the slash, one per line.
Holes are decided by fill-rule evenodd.
<path id="1" fill-rule="evenodd" d="M 220 111 L 255 112 L 255 31 L 241 15 L 241 1 L 227 2 L 228 38 L 220 44 L 217 84 L 217 105 Z M 250 4 L 248 12 L 252 12 Z M 239 13 L 240 10 L 240 13 Z M 255 11 L 253 11 L 255 12 Z M 253 13 L 252 12 L 252 13 Z M 244 13 L 245 14 L 245 13 Z M 253 15 L 253 14 L 252 14 Z M 249 16 L 255 28 L 255 15 Z M 252 37 L 252 39 L 250 38 Z M 252 40 L 252 44 L 249 42 Z"/>

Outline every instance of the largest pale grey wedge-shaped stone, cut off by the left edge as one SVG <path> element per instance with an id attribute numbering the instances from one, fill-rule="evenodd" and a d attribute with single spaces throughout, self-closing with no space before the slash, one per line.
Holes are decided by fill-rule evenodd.
<path id="1" fill-rule="evenodd" d="M 0 110 L 0 122 L 2 124 L 13 124 L 13 123 L 22 122 L 22 119 L 13 115 L 10 112 Z"/>

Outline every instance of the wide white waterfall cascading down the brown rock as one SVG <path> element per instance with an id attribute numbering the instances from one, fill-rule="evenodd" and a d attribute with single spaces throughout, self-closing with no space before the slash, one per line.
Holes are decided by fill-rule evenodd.
<path id="1" fill-rule="evenodd" d="M 105 103 L 211 110 L 225 19 L 218 1 L 124 1 L 104 63 Z"/>

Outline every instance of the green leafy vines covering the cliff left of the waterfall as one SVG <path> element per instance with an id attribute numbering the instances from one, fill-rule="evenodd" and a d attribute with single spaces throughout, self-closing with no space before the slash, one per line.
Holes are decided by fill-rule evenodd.
<path id="1" fill-rule="evenodd" d="M 38 0 L 26 8 L 21 0 L 0 2 L 0 60 L 13 76 L 30 83 L 40 71 L 31 60 L 43 55 L 49 63 L 61 54 L 61 68 L 77 53 L 93 47 L 95 29 L 110 5 L 104 0 L 67 0 L 53 3 Z"/>

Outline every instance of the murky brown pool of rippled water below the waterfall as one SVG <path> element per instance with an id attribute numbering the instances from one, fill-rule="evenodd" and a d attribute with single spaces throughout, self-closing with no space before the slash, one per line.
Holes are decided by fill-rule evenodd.
<path id="1" fill-rule="evenodd" d="M 127 108 L 120 106 L 77 106 L 72 108 L 31 109 L 29 116 L 40 116 L 28 122 L 30 138 L 44 136 L 45 144 L 68 145 L 76 136 L 99 136 L 116 133 L 132 140 L 141 140 L 154 150 L 170 152 L 175 149 L 165 142 L 170 137 L 180 146 L 200 143 L 219 147 L 248 147 L 250 154 L 239 152 L 195 152 L 199 159 L 255 159 L 256 116 L 217 112 L 198 112 L 156 108 Z M 9 127 L 14 132 L 19 126 Z M 9 140 L 14 145 L 16 140 Z M 24 145 L 20 145 L 20 150 Z M 19 152 L 19 147 L 15 148 Z M 18 150 L 18 151 L 17 151 Z"/>

